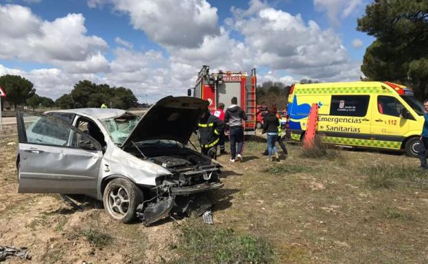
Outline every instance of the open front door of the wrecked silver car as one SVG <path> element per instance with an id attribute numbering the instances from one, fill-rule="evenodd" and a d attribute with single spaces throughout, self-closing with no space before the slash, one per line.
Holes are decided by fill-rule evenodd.
<path id="1" fill-rule="evenodd" d="M 96 195 L 101 146 L 68 123 L 19 110 L 19 193 Z"/>

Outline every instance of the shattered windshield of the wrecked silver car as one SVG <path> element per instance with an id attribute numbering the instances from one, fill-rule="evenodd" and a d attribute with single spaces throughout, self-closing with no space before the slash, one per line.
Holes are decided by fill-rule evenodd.
<path id="1" fill-rule="evenodd" d="M 125 114 L 121 117 L 102 119 L 101 123 L 108 131 L 112 141 L 121 145 L 125 141 L 141 117 L 137 115 Z"/>

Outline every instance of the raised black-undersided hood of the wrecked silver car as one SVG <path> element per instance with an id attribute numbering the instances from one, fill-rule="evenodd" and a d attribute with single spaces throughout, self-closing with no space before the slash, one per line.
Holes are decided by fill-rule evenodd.
<path id="1" fill-rule="evenodd" d="M 185 144 L 195 130 L 202 111 L 208 105 L 207 101 L 195 97 L 168 96 L 160 99 L 141 118 L 122 147 L 130 142 L 153 139 L 167 139 Z"/>

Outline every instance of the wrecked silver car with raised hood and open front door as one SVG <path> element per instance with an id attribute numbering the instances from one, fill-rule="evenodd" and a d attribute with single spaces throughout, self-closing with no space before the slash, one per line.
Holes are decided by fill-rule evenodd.
<path id="1" fill-rule="evenodd" d="M 151 224 L 198 216 L 223 187 L 219 163 L 187 147 L 207 102 L 160 99 L 144 117 L 118 109 L 17 113 L 20 193 L 84 194 L 110 217 Z"/>

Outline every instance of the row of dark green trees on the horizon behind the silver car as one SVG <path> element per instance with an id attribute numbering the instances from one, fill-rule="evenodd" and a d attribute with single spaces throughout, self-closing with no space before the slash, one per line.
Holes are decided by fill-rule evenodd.
<path id="1" fill-rule="evenodd" d="M 129 109 L 138 106 L 138 100 L 134 93 L 125 87 L 110 87 L 108 84 L 95 84 L 88 80 L 82 80 L 73 86 L 73 90 L 64 94 L 56 101 L 49 97 L 37 95 L 34 85 L 29 80 L 19 75 L 3 75 L 0 77 L 0 87 L 7 97 L 1 98 L 1 110 L 4 102 L 10 106 L 39 106 L 51 108 L 56 106 L 61 109 L 100 107 L 103 103 L 114 108 Z"/>

